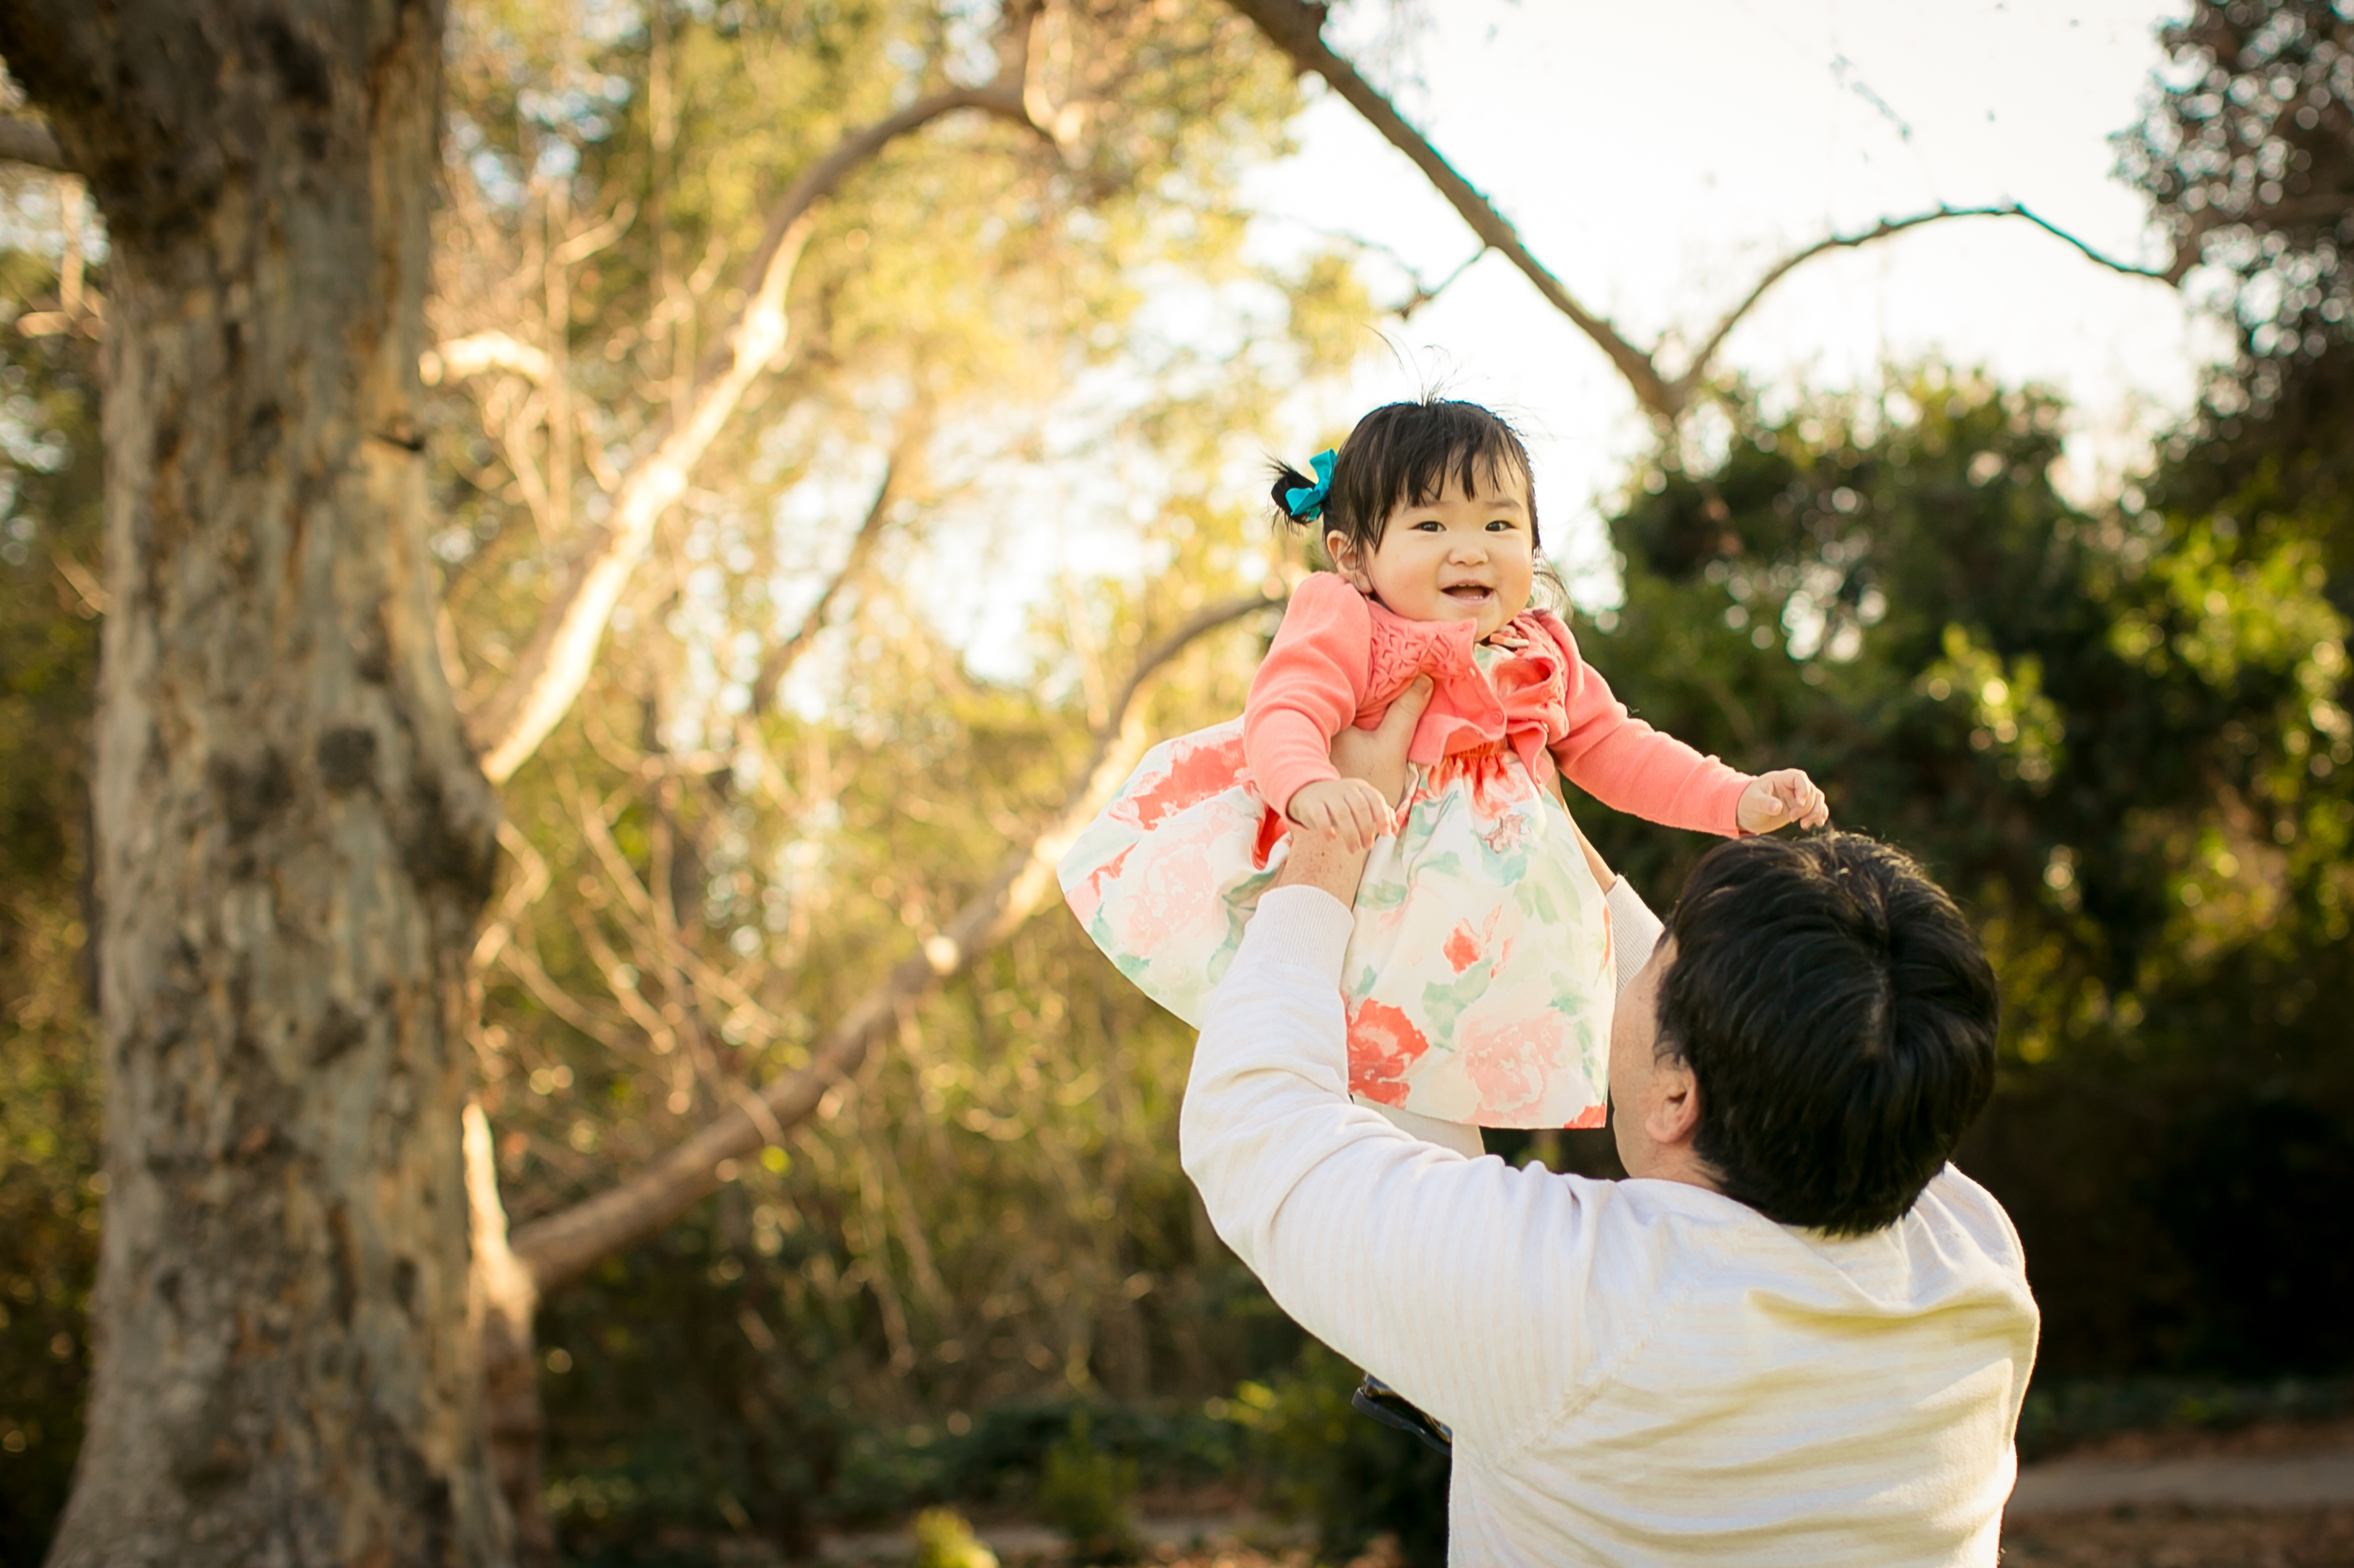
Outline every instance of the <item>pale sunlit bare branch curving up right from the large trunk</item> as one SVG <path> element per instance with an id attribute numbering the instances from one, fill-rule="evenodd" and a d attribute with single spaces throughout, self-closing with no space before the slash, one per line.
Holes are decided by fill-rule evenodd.
<path id="1" fill-rule="evenodd" d="M 588 680 L 588 669 L 596 664 L 612 607 L 652 546 L 654 523 L 685 494 L 694 466 L 734 417 L 751 384 L 784 353 L 789 337 L 784 294 L 793 280 L 800 247 L 814 228 L 817 202 L 833 195 L 852 170 L 897 137 L 965 108 L 1029 125 L 1019 78 L 1008 87 L 956 87 L 918 99 L 899 113 L 843 137 L 840 146 L 805 170 L 770 210 L 767 233 L 763 233 L 744 273 L 744 306 L 709 358 L 711 374 L 699 377 L 683 417 L 661 445 L 621 476 L 621 485 L 612 494 L 612 520 L 605 523 L 556 593 L 518 657 L 513 678 L 476 718 L 483 772 L 490 775 L 492 784 L 513 777 L 516 768 L 572 709 Z"/>

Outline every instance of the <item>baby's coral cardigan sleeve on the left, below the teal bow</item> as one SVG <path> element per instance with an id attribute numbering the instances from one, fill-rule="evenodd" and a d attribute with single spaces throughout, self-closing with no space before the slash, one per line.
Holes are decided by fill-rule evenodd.
<path id="1" fill-rule="evenodd" d="M 1337 779 L 1332 737 L 1365 697 L 1372 612 L 1332 572 L 1292 591 L 1243 704 L 1243 760 L 1259 796 L 1285 817 L 1302 784 Z"/>

